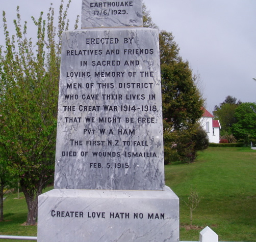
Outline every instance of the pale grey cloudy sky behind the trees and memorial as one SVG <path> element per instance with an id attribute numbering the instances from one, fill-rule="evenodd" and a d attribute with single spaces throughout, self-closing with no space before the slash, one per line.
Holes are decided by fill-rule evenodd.
<path id="1" fill-rule="evenodd" d="M 11 31 L 17 6 L 22 21 L 32 26 L 31 16 L 37 18 L 43 11 L 46 17 L 50 3 L 57 13 L 60 4 L 60 0 L 0 1 L 0 45 L 4 44 L 3 10 Z M 81 15 L 81 2 L 72 0 L 70 28 L 76 15 Z M 210 112 L 228 95 L 242 102 L 256 102 L 256 81 L 252 79 L 256 78 L 255 0 L 144 0 L 144 3 L 153 22 L 160 30 L 172 32 L 180 55 L 189 62 L 193 73 L 200 75 L 200 89 Z"/>

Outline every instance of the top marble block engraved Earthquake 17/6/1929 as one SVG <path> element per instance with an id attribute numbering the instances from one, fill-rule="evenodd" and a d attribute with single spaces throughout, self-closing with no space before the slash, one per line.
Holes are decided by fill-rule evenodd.
<path id="1" fill-rule="evenodd" d="M 82 0 L 82 28 L 141 27 L 142 0 Z"/>

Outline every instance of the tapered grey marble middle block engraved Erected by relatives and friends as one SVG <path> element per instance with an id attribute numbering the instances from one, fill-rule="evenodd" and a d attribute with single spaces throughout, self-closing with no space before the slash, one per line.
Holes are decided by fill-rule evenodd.
<path id="1" fill-rule="evenodd" d="M 65 32 L 55 188 L 163 187 L 158 31 Z"/>

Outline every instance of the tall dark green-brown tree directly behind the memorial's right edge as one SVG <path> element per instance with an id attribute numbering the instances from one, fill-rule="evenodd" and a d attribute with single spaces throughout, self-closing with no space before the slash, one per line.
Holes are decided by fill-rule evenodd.
<path id="1" fill-rule="evenodd" d="M 155 27 L 149 12 L 143 6 L 143 23 L 146 27 Z M 172 33 L 161 31 L 159 34 L 160 64 L 162 81 L 162 106 L 164 125 L 164 152 L 165 164 L 172 159 L 181 159 L 181 150 L 189 154 L 194 145 L 180 146 L 176 140 L 179 137 L 192 139 L 196 133 L 197 121 L 202 115 L 201 107 L 204 104 L 189 63 L 184 62 L 179 55 L 180 48 L 174 41 Z M 188 143 L 190 143 L 188 141 Z M 188 144 L 187 143 L 187 144 Z M 193 142 L 192 142 L 193 143 Z M 185 152 L 187 150 L 187 152 Z M 190 152 L 189 152 L 190 150 Z"/>

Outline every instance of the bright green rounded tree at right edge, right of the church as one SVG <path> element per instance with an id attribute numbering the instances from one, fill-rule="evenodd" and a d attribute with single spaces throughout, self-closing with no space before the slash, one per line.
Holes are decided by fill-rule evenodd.
<path id="1" fill-rule="evenodd" d="M 237 139 L 244 139 L 247 144 L 256 139 L 256 103 L 242 103 L 236 111 L 237 123 L 232 126 Z"/>

